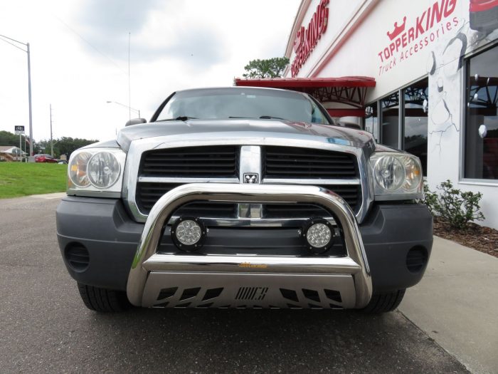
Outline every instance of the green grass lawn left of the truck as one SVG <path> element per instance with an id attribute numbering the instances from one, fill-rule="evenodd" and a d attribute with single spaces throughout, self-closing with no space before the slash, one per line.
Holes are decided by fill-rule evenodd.
<path id="1" fill-rule="evenodd" d="M 63 192 L 68 165 L 0 162 L 0 199 Z"/>

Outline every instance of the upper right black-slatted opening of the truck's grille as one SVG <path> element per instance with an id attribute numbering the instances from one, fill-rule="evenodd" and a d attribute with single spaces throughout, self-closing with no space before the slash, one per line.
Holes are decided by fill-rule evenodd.
<path id="1" fill-rule="evenodd" d="M 356 157 L 299 147 L 263 148 L 264 178 L 350 179 L 358 177 Z"/>

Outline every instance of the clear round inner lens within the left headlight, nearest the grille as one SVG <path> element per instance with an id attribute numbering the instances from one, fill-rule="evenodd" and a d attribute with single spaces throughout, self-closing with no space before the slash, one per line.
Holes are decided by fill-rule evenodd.
<path id="1" fill-rule="evenodd" d="M 88 162 L 87 172 L 92 185 L 97 188 L 108 188 L 120 177 L 120 162 L 111 152 L 98 152 Z"/>

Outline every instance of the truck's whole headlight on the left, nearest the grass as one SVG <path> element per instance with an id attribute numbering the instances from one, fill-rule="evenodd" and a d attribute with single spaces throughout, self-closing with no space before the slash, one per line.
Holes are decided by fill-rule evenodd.
<path id="1" fill-rule="evenodd" d="M 126 153 L 117 148 L 76 150 L 68 165 L 68 194 L 118 197 Z"/>

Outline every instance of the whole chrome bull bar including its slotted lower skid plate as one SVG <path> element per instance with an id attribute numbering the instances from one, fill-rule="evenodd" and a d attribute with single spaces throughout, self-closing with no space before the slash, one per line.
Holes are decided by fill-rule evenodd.
<path id="1" fill-rule="evenodd" d="M 347 256 L 158 254 L 164 225 L 193 201 L 321 205 L 341 226 Z M 211 300 L 210 292 L 219 294 Z M 364 308 L 371 294 L 369 264 L 349 205 L 328 189 L 302 185 L 192 183 L 171 189 L 147 217 L 127 282 L 129 301 L 147 307 Z"/>

